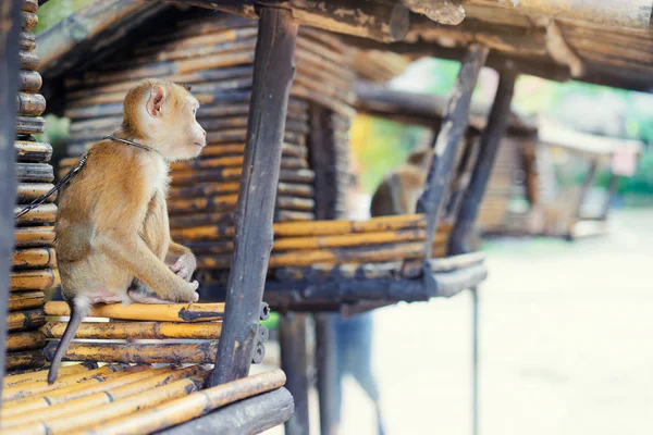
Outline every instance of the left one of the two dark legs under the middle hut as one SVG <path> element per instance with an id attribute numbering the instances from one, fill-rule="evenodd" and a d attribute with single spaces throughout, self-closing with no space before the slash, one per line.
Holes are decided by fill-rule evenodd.
<path id="1" fill-rule="evenodd" d="M 308 362 L 306 359 L 306 314 L 287 313 L 279 322 L 281 369 L 286 374 L 285 387 L 295 399 L 295 413 L 285 423 L 286 435 L 307 435 Z"/>

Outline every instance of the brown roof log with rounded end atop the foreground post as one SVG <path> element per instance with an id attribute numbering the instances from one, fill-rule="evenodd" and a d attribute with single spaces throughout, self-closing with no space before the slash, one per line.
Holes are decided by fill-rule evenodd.
<path id="1" fill-rule="evenodd" d="M 188 0 L 188 4 L 257 18 L 260 5 L 283 8 L 300 25 L 371 38 L 402 40 L 410 27 L 410 11 L 401 2 L 365 0 Z"/>

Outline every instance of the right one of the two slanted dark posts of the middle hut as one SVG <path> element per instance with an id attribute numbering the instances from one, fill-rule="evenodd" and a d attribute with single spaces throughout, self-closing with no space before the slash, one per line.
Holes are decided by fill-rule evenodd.
<path id="1" fill-rule="evenodd" d="M 496 88 L 488 124 L 481 135 L 480 151 L 471 181 L 465 192 L 454 231 L 449 236 L 449 256 L 469 252 L 468 238 L 479 214 L 481 200 L 485 194 L 498 146 L 508 122 L 517 74 L 512 70 L 504 70 L 500 74 L 498 87 Z"/>

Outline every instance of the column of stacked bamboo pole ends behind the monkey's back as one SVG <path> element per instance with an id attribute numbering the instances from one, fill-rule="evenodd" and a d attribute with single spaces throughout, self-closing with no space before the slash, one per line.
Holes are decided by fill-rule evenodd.
<path id="1" fill-rule="evenodd" d="M 20 47 L 20 92 L 16 101 L 15 173 L 17 200 L 14 213 L 52 188 L 54 172 L 49 164 L 52 147 L 37 141 L 33 135 L 44 132 L 40 115 L 46 99 L 38 94 L 42 79 L 37 72 L 39 58 L 34 52 L 38 24 L 38 2 L 23 0 L 23 30 Z M 57 254 L 52 243 L 52 223 L 57 216 L 57 196 L 16 221 L 15 247 L 10 273 L 7 336 L 8 373 L 42 368 L 46 363 L 45 336 L 38 328 L 45 323 L 45 294 L 59 284 Z"/>

